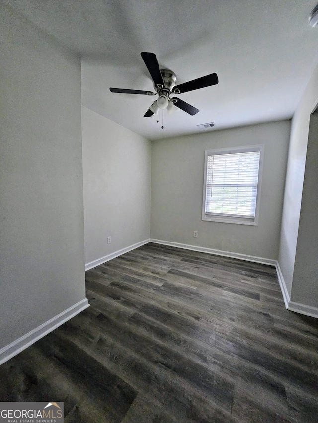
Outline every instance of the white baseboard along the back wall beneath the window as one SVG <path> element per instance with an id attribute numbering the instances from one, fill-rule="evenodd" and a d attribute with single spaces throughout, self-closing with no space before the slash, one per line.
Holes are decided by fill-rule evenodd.
<path id="1" fill-rule="evenodd" d="M 183 248 L 191 251 L 205 252 L 207 254 L 221 255 L 223 257 L 238 258 L 239 260 L 252 261 L 254 263 L 268 264 L 270 266 L 276 266 L 276 260 L 270 258 L 256 257 L 253 255 L 240 254 L 238 252 L 222 251 L 214 248 L 200 247 L 197 245 L 181 244 L 179 242 L 170 242 L 163 240 L 155 240 L 151 238 L 149 242 L 155 244 L 168 245 L 170 247 Z"/>

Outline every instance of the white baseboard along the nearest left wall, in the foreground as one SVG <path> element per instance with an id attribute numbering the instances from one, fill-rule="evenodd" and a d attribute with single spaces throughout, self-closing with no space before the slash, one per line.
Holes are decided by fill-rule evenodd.
<path id="1" fill-rule="evenodd" d="M 63 323 L 67 322 L 87 307 L 89 307 L 88 300 L 87 298 L 84 298 L 80 302 L 72 305 L 67 310 L 62 311 L 62 313 L 31 330 L 27 334 L 21 336 L 21 338 L 18 338 L 17 340 L 11 342 L 11 344 L 3 347 L 0 350 L 0 365 L 21 353 L 21 351 L 34 344 L 34 342 L 43 338 L 45 335 L 61 326 Z"/>

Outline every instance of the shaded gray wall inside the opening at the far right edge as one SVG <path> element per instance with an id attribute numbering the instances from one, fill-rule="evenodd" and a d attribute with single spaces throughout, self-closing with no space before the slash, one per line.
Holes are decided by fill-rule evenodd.
<path id="1" fill-rule="evenodd" d="M 318 112 L 311 115 L 291 300 L 318 306 Z"/>

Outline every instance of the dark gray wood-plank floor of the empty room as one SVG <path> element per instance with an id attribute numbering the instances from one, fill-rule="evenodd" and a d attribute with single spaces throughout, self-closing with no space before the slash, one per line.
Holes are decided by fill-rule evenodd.
<path id="1" fill-rule="evenodd" d="M 317 423 L 318 323 L 275 268 L 147 244 L 86 272 L 90 307 L 0 367 L 65 422 Z"/>

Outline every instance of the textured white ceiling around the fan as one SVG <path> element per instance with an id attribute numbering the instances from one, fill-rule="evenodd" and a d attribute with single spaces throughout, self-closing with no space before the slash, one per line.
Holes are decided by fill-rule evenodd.
<path id="1" fill-rule="evenodd" d="M 149 139 L 291 118 L 318 63 L 317 0 L 5 0 L 82 57 L 82 104 Z M 216 72 L 219 84 L 180 95 L 164 129 L 143 115 L 155 97 L 140 52 L 156 54 L 178 83 Z M 213 130 L 213 129 L 212 129 Z"/>

